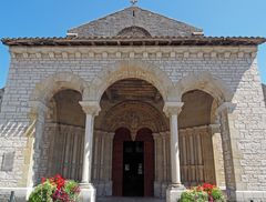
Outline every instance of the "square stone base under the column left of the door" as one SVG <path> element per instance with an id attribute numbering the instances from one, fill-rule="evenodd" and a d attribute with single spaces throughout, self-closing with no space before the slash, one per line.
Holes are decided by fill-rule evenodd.
<path id="1" fill-rule="evenodd" d="M 96 189 L 91 183 L 80 183 L 81 194 L 80 201 L 81 202 L 95 202 L 96 201 Z"/>

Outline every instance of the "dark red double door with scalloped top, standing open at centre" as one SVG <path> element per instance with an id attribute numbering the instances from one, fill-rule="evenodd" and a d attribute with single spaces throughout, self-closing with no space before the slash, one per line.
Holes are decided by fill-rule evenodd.
<path id="1" fill-rule="evenodd" d="M 112 164 L 113 195 L 154 195 L 154 142 L 151 130 L 141 129 L 135 141 L 131 140 L 127 129 L 116 130 Z"/>

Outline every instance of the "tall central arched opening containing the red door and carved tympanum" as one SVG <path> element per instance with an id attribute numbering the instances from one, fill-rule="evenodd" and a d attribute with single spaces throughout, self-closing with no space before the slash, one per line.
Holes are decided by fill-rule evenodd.
<path id="1" fill-rule="evenodd" d="M 144 80 L 125 79 L 110 85 L 100 104 L 102 111 L 95 119 L 93 159 L 98 195 L 161 196 L 162 183 L 167 182 L 170 171 L 168 156 L 165 168 L 156 165 L 160 155 L 155 155 L 155 139 L 168 137 L 161 93 Z M 165 143 L 164 151 L 161 147 L 157 151 L 166 155 L 168 147 Z M 108 178 L 101 174 L 101 169 L 106 169 L 102 165 L 104 159 L 109 161 Z M 167 175 L 161 174 L 164 172 Z"/>

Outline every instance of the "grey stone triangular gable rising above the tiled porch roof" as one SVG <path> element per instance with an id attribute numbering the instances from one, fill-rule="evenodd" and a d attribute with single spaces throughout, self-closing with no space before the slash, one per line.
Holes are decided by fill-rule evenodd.
<path id="1" fill-rule="evenodd" d="M 78 37 L 115 37 L 125 29 L 137 28 L 144 30 L 144 36 L 152 37 L 191 37 L 194 33 L 203 32 L 184 22 L 141 9 L 129 7 L 122 11 L 109 14 L 104 18 L 91 21 L 83 26 L 70 29 L 68 34 Z M 135 29 L 134 29 L 135 30 Z"/>

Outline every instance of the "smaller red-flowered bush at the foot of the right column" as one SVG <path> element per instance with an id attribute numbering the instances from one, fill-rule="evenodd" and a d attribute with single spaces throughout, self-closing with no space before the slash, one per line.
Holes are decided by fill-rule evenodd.
<path id="1" fill-rule="evenodd" d="M 181 194 L 180 202 L 225 202 L 223 192 L 213 184 L 193 186 Z"/>

